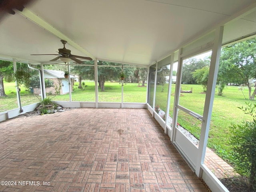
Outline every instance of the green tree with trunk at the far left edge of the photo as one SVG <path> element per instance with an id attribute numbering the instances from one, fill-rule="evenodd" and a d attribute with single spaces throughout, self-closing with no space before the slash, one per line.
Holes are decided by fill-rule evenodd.
<path id="1" fill-rule="evenodd" d="M 12 62 L 0 60 L 0 97 L 7 96 L 4 92 L 4 77 L 12 76 L 12 73 Z"/>

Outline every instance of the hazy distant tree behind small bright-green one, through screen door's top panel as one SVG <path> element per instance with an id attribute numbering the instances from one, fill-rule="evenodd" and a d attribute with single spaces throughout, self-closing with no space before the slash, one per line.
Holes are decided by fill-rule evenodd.
<path id="1" fill-rule="evenodd" d="M 197 59 L 197 58 L 189 58 L 184 60 L 184 64 L 182 67 L 182 79 L 181 83 L 185 84 L 196 84 L 196 80 L 193 78 L 192 72 L 197 69 L 201 69 L 204 66 L 209 66 L 209 58 L 207 59 Z"/>

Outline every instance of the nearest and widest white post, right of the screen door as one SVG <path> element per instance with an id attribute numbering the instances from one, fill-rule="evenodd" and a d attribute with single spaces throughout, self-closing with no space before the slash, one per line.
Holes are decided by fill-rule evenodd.
<path id="1" fill-rule="evenodd" d="M 198 146 L 199 156 L 198 156 L 198 161 L 196 162 L 197 163 L 196 175 L 198 177 L 202 176 L 201 164 L 204 164 L 204 157 L 206 153 L 207 140 L 208 140 L 208 134 L 210 129 L 210 121 L 212 116 L 212 106 L 214 101 L 214 94 L 215 94 L 218 68 L 219 68 L 219 62 L 220 62 L 220 51 L 222 46 L 223 29 L 224 29 L 223 26 L 220 26 L 216 29 L 214 45 L 212 48 L 207 91 L 206 91 L 206 97 L 204 102 L 203 121 L 202 121 L 200 140 L 199 140 L 199 146 Z"/>

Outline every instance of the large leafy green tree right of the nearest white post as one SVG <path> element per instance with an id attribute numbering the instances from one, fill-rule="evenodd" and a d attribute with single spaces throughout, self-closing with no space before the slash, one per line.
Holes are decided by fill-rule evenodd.
<path id="1" fill-rule="evenodd" d="M 249 90 L 249 99 L 256 95 L 256 84 L 250 80 L 256 78 L 256 38 L 232 44 L 222 48 L 219 79 L 223 83 L 244 84 Z"/>

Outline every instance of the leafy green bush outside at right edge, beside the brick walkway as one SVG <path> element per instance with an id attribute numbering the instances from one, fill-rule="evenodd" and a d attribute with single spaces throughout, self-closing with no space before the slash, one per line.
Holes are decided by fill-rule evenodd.
<path id="1" fill-rule="evenodd" d="M 230 126 L 233 136 L 230 144 L 233 148 L 235 169 L 249 177 L 250 191 L 256 190 L 256 104 L 246 102 L 246 107 L 238 107 L 252 117 L 251 121 L 243 120 L 241 124 Z"/>

